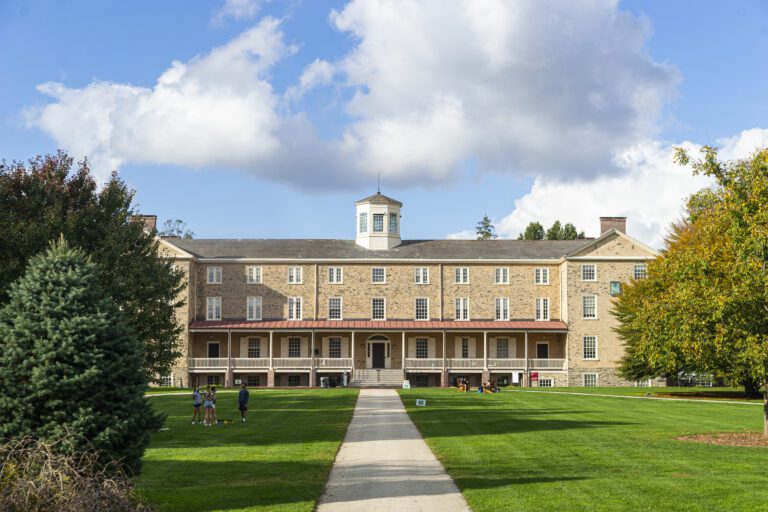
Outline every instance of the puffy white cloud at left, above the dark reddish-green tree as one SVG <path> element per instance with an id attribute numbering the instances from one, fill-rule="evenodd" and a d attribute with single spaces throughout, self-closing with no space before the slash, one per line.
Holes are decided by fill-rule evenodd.
<path id="1" fill-rule="evenodd" d="M 224 46 L 173 62 L 151 88 L 42 84 L 55 102 L 28 112 L 28 122 L 89 156 L 102 178 L 126 162 L 248 168 L 280 150 L 284 120 L 266 75 L 294 51 L 279 22 L 265 18 Z"/>

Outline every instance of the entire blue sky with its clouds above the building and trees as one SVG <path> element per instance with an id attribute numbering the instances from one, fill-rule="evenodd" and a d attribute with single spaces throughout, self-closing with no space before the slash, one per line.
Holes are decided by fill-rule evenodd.
<path id="1" fill-rule="evenodd" d="M 380 172 L 404 238 L 627 215 L 658 244 L 706 184 L 671 146 L 768 142 L 766 55 L 757 0 L 5 0 L 0 157 L 116 166 L 200 238 L 351 238 Z"/>

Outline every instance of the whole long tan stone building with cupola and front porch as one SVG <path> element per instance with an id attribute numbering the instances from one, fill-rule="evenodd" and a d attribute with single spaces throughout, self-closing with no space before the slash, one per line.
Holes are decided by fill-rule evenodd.
<path id="1" fill-rule="evenodd" d="M 182 240 L 175 385 L 634 385 L 610 313 L 656 251 L 602 217 L 596 239 L 401 240 L 402 204 L 356 203 L 354 240 Z"/>

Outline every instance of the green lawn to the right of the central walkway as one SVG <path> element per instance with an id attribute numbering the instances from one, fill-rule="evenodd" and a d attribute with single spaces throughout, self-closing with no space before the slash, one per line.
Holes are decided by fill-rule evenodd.
<path id="1" fill-rule="evenodd" d="M 476 512 L 768 510 L 768 450 L 675 439 L 762 431 L 759 405 L 512 390 L 401 397 Z"/>

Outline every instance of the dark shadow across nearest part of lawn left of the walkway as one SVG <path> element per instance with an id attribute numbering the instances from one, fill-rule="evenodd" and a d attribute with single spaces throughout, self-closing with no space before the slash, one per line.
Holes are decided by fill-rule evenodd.
<path id="1" fill-rule="evenodd" d="M 331 468 L 312 462 L 153 460 L 135 480 L 161 512 L 212 511 L 313 503 Z"/>

